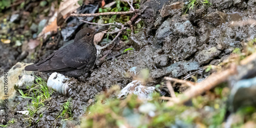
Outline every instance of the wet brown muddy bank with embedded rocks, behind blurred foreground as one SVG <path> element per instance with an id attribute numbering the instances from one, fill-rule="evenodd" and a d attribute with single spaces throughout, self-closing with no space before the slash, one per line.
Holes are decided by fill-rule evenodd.
<path id="1" fill-rule="evenodd" d="M 161 84 L 164 82 L 164 76 L 193 81 L 189 76 L 195 75 L 198 81 L 204 80 L 210 74 L 201 70 L 204 66 L 221 63 L 234 48 L 243 49 L 245 42 L 256 38 L 256 25 L 248 23 L 249 20 L 254 22 L 256 20 L 254 0 L 210 0 L 209 2 L 212 4 L 209 7 L 199 5 L 184 14 L 182 6 L 187 5 L 188 1 L 142 1 L 138 14 L 144 25 L 134 35 L 134 40 L 130 39 L 129 43 L 123 43 L 119 38 L 111 53 L 100 61 L 99 58 L 103 57 L 108 49 L 102 52 L 90 72 L 73 83 L 72 93 L 69 96 L 54 92 L 51 99 L 45 103 L 49 108 L 42 111 L 42 117 L 37 123 L 39 114 L 34 117 L 31 127 L 78 125 L 79 117 L 86 112 L 89 105 L 93 104 L 96 94 L 110 89 L 113 85 L 124 88 L 144 68 L 150 70 L 147 86 Z M 173 9 L 170 6 L 173 3 L 182 6 Z M 97 6 L 97 3 L 93 6 Z M 74 24 L 79 24 L 77 22 Z M 78 30 L 82 27 L 87 27 L 87 24 L 80 25 Z M 51 38 L 46 40 L 41 48 L 36 50 L 38 53 L 34 54 L 35 59 L 32 61 L 31 55 L 24 53 L 22 47 L 13 48 L 11 45 L 0 43 L 1 75 L 4 69 L 10 69 L 16 62 L 36 63 L 46 58 L 74 38 L 71 36 L 63 41 L 60 32 L 52 37 L 55 37 L 55 40 Z M 49 46 L 51 42 L 55 45 Z M 122 54 L 122 51 L 128 47 L 133 47 L 135 50 Z M 44 73 L 35 72 L 35 74 L 44 79 L 49 77 Z M 183 92 L 184 89 L 177 87 L 175 91 Z M 166 88 L 162 88 L 160 93 L 168 96 Z M 73 120 L 55 119 L 63 104 L 62 101 L 68 98 L 72 98 Z M 17 122 L 9 127 L 28 125 L 24 115 L 16 112 L 26 110 L 27 101 L 31 100 L 16 96 L 14 102 L 19 104 L 11 109 L 9 116 L 15 118 Z"/>

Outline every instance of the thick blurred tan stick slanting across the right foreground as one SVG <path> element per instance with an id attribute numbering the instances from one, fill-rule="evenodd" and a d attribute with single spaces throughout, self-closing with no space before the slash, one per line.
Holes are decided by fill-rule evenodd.
<path id="1" fill-rule="evenodd" d="M 183 94 L 179 95 L 176 101 L 169 101 L 168 105 L 172 106 L 174 105 L 174 103 L 183 104 L 189 99 L 198 96 L 204 93 L 205 91 L 210 90 L 211 88 L 214 88 L 222 82 L 225 82 L 228 79 L 228 76 L 233 75 L 235 73 L 237 73 L 236 65 L 231 64 L 230 68 L 218 73 L 211 74 L 204 81 L 197 83 L 193 88 L 189 88 Z"/>

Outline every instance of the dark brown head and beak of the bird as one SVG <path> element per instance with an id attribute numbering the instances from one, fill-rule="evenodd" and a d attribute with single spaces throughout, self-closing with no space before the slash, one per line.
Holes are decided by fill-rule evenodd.
<path id="1" fill-rule="evenodd" d="M 104 29 L 104 28 L 100 28 L 96 30 L 90 29 L 90 28 L 81 29 L 75 36 L 75 42 L 76 40 L 82 39 L 84 41 L 93 43 L 94 35 L 105 30 L 108 30 L 108 29 Z"/>

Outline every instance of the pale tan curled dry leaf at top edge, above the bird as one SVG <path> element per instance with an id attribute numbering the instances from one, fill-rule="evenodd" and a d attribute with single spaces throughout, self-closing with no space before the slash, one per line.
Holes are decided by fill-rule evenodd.
<path id="1" fill-rule="evenodd" d="M 57 25 L 61 25 L 65 18 L 63 16 L 72 13 L 76 9 L 80 7 L 80 5 L 77 3 L 79 0 L 63 0 L 61 1 L 58 9 L 58 15 L 57 15 Z"/>

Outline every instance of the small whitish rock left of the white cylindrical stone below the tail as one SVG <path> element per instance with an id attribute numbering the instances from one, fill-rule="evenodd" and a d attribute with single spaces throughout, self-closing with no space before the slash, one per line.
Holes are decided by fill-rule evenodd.
<path id="1" fill-rule="evenodd" d="M 18 89 L 27 89 L 28 87 L 31 87 L 34 83 L 35 77 L 31 75 L 22 75 L 22 78 L 17 81 L 15 86 Z"/>

